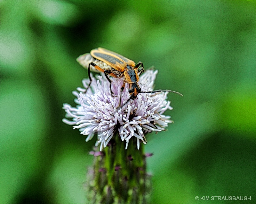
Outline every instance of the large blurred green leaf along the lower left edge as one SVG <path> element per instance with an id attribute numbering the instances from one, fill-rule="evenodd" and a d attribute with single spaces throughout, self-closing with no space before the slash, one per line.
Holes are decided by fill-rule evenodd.
<path id="1" fill-rule="evenodd" d="M 13 203 L 39 164 L 47 110 L 36 84 L 4 80 L 0 89 L 0 203 Z"/>

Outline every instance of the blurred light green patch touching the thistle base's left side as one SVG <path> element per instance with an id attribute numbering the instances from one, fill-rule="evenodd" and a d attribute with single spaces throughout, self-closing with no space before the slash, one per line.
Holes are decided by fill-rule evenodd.
<path id="1" fill-rule="evenodd" d="M 53 194 L 53 203 L 84 203 L 86 165 L 92 156 L 76 146 L 66 144 L 59 149 L 53 161 L 52 171 L 45 187 Z M 75 167 L 75 168 L 74 168 Z"/>

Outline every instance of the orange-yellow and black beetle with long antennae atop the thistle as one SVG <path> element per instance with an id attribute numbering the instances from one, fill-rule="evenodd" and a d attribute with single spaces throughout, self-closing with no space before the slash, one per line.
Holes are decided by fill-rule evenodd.
<path id="1" fill-rule="evenodd" d="M 129 93 L 131 94 L 130 99 L 132 100 L 137 98 L 137 95 L 139 93 L 155 93 L 160 91 L 168 91 L 180 94 L 179 92 L 170 90 L 141 91 L 138 81 L 140 74 L 144 71 L 143 63 L 138 62 L 135 65 L 135 62 L 133 62 L 132 60 L 129 60 L 122 55 L 119 55 L 115 52 L 112 52 L 101 47 L 93 49 L 90 53 L 80 55 L 76 59 L 76 61 L 79 62 L 84 68 L 88 69 L 90 83 L 87 89 L 89 88 L 92 82 L 90 75 L 92 69 L 92 71 L 104 72 L 106 78 L 110 82 L 110 91 L 111 80 L 109 79 L 108 75 L 115 78 L 124 78 L 124 83 L 121 88 L 121 91 L 123 91 L 125 84 L 128 83 Z M 111 94 L 113 94 L 112 91 Z M 182 96 L 182 94 L 180 95 Z M 126 103 L 128 101 L 126 101 Z"/>

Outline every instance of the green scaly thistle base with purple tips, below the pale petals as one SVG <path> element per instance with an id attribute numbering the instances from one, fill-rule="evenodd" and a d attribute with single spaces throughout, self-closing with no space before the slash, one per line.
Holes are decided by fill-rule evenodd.
<path id="1" fill-rule="evenodd" d="M 146 173 L 143 145 L 138 150 L 135 137 L 125 150 L 125 142 L 116 134 L 96 155 L 87 176 L 88 203 L 148 203 L 151 177 Z"/>

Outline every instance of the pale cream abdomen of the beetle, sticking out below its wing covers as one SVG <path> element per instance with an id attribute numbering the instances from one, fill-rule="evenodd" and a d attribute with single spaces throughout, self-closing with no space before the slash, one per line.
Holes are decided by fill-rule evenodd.
<path id="1" fill-rule="evenodd" d="M 86 69 L 88 69 L 89 63 L 93 62 L 94 64 L 98 65 L 102 69 L 111 70 L 111 67 L 108 64 L 93 58 L 92 55 L 90 55 L 90 53 L 85 53 L 84 55 L 80 55 L 79 57 L 76 58 L 76 61 Z M 93 66 L 90 66 L 90 69 L 91 71 L 99 72 Z"/>

